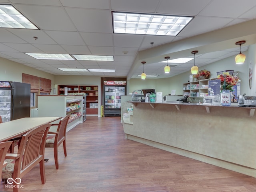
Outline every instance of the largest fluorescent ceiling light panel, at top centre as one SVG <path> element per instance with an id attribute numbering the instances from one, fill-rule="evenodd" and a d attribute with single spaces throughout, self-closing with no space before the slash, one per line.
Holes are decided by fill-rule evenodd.
<path id="1" fill-rule="evenodd" d="M 194 18 L 112 12 L 114 33 L 177 36 Z"/>

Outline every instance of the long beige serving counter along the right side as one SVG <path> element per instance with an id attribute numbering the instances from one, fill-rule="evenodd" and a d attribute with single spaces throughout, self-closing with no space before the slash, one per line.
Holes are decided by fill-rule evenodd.
<path id="1" fill-rule="evenodd" d="M 127 139 L 256 177 L 255 109 L 124 102 L 122 123 Z"/>

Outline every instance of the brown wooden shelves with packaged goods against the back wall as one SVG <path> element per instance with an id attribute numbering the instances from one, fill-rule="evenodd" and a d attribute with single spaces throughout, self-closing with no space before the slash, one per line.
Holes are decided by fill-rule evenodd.
<path id="1" fill-rule="evenodd" d="M 86 114 L 98 114 L 98 86 L 97 85 L 58 85 L 58 94 L 68 93 L 86 94 Z M 91 110 L 93 108 L 93 110 Z M 96 110 L 97 109 L 97 110 Z"/>

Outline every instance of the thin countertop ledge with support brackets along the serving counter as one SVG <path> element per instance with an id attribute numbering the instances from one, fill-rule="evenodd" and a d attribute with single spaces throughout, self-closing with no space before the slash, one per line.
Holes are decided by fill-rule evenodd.
<path id="1" fill-rule="evenodd" d="M 149 104 L 153 109 L 156 107 L 156 104 L 173 104 L 176 109 L 178 111 L 181 110 L 181 106 L 182 105 L 196 105 L 196 106 L 203 106 L 205 107 L 205 110 L 207 113 L 210 113 L 210 107 L 232 107 L 232 108 L 242 108 L 239 106 L 217 106 L 217 105 L 203 105 L 203 104 L 191 104 L 191 103 L 180 103 L 180 104 L 175 104 L 175 103 L 171 103 L 171 102 L 154 102 L 154 103 L 150 103 L 150 102 L 132 102 L 132 104 L 136 107 L 139 103 L 142 104 Z M 251 108 L 251 107 L 245 107 L 246 109 L 249 110 L 249 116 L 254 116 L 254 112 L 255 112 L 255 108 Z"/>

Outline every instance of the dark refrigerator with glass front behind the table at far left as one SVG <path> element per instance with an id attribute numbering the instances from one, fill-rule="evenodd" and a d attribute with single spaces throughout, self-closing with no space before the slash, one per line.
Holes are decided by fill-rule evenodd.
<path id="1" fill-rule="evenodd" d="M 30 117 L 30 84 L 0 81 L 0 115 L 3 122 Z"/>

